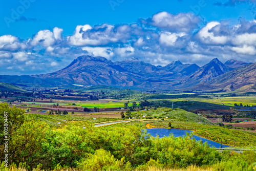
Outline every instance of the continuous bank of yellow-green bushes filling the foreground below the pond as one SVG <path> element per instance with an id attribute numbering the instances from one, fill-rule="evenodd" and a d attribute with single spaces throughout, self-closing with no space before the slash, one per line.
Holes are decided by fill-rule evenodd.
<path id="1" fill-rule="evenodd" d="M 184 167 L 220 160 L 220 154 L 215 149 L 190 139 L 189 135 L 186 138 L 150 138 L 138 127 L 129 125 L 94 127 L 87 124 L 86 129 L 69 126 L 65 130 L 51 130 L 45 123 L 27 121 L 13 137 L 10 142 L 13 153 L 9 162 L 17 165 L 26 162 L 30 168 L 40 163 L 42 168 L 50 169 L 58 164 L 121 169 L 146 164 L 151 158 L 159 159 L 168 167 Z M 99 157 L 104 158 L 103 161 Z"/>

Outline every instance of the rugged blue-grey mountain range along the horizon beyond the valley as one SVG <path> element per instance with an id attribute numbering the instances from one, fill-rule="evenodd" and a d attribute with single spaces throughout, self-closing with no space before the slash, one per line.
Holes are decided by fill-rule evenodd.
<path id="1" fill-rule="evenodd" d="M 256 63 L 234 59 L 222 63 L 217 58 L 199 67 L 175 60 L 154 66 L 137 58 L 112 62 L 100 56 L 79 56 L 69 66 L 53 73 L 39 75 L 1 75 L 0 82 L 28 87 L 116 86 L 130 89 L 222 89 L 231 85 L 239 89 L 255 83 Z M 254 81 L 254 82 L 253 82 Z"/>

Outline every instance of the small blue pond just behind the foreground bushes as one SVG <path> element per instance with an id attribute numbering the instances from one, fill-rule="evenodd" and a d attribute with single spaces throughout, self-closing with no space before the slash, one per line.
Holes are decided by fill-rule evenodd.
<path id="1" fill-rule="evenodd" d="M 186 136 L 186 133 L 191 133 L 193 131 L 189 131 L 189 130 L 176 130 L 176 129 L 147 129 L 147 133 L 152 135 L 153 137 L 156 137 L 157 135 L 159 136 L 159 138 L 162 138 L 164 136 L 169 136 L 170 134 L 173 134 L 174 137 L 181 137 L 181 136 Z M 207 142 L 209 144 L 209 146 L 211 147 L 216 147 L 216 148 L 224 148 L 224 147 L 230 147 L 228 145 L 224 145 L 224 144 L 220 144 L 218 142 L 214 142 L 211 140 L 207 140 L 205 138 L 201 138 L 199 136 L 193 135 L 193 137 L 199 141 L 202 140 L 202 142 Z"/>

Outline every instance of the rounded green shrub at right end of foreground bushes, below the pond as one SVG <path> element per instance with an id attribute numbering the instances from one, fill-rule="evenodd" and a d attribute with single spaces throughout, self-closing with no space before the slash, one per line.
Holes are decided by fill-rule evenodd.
<path id="1" fill-rule="evenodd" d="M 220 161 L 218 151 L 208 144 L 186 137 L 169 136 L 154 138 L 154 156 L 167 167 L 187 167 L 188 165 L 209 165 Z"/>

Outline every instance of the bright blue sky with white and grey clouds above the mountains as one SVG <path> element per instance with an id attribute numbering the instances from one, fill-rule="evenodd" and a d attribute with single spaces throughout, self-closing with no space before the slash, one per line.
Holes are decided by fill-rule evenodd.
<path id="1" fill-rule="evenodd" d="M 256 1 L 1 1 L 0 74 L 40 74 L 80 55 L 155 66 L 256 62 Z"/>

